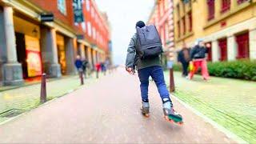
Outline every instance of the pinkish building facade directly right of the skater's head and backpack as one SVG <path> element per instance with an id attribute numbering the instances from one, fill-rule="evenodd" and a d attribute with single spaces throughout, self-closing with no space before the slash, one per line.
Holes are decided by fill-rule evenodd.
<path id="1" fill-rule="evenodd" d="M 156 0 L 147 24 L 158 29 L 166 54 L 164 61 L 174 61 L 173 0 Z"/>

